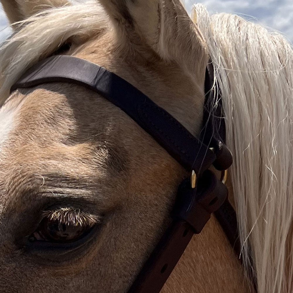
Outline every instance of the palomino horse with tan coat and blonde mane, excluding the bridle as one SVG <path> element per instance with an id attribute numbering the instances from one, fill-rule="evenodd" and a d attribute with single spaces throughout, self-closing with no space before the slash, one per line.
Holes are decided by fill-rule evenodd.
<path id="1" fill-rule="evenodd" d="M 194 136 L 210 59 L 234 156 L 227 185 L 243 266 L 212 217 L 162 292 L 253 292 L 251 270 L 259 293 L 292 292 L 293 54 L 285 38 L 238 16 L 209 17 L 202 5 L 192 21 L 179 0 L 1 3 L 14 29 L 0 48 L 1 292 L 127 292 L 188 176 L 130 117 L 82 86 L 9 95 L 52 54 L 116 73 Z M 62 249 L 53 245 L 56 222 L 70 231 Z"/>

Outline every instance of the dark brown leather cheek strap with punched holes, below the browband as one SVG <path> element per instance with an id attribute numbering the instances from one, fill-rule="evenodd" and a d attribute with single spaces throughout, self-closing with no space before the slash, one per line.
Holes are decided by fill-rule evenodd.
<path id="1" fill-rule="evenodd" d="M 157 244 L 128 293 L 159 293 L 193 234 L 199 234 L 228 190 L 212 171 L 205 171 L 195 189 L 188 179 L 178 188 L 173 222 Z"/>

